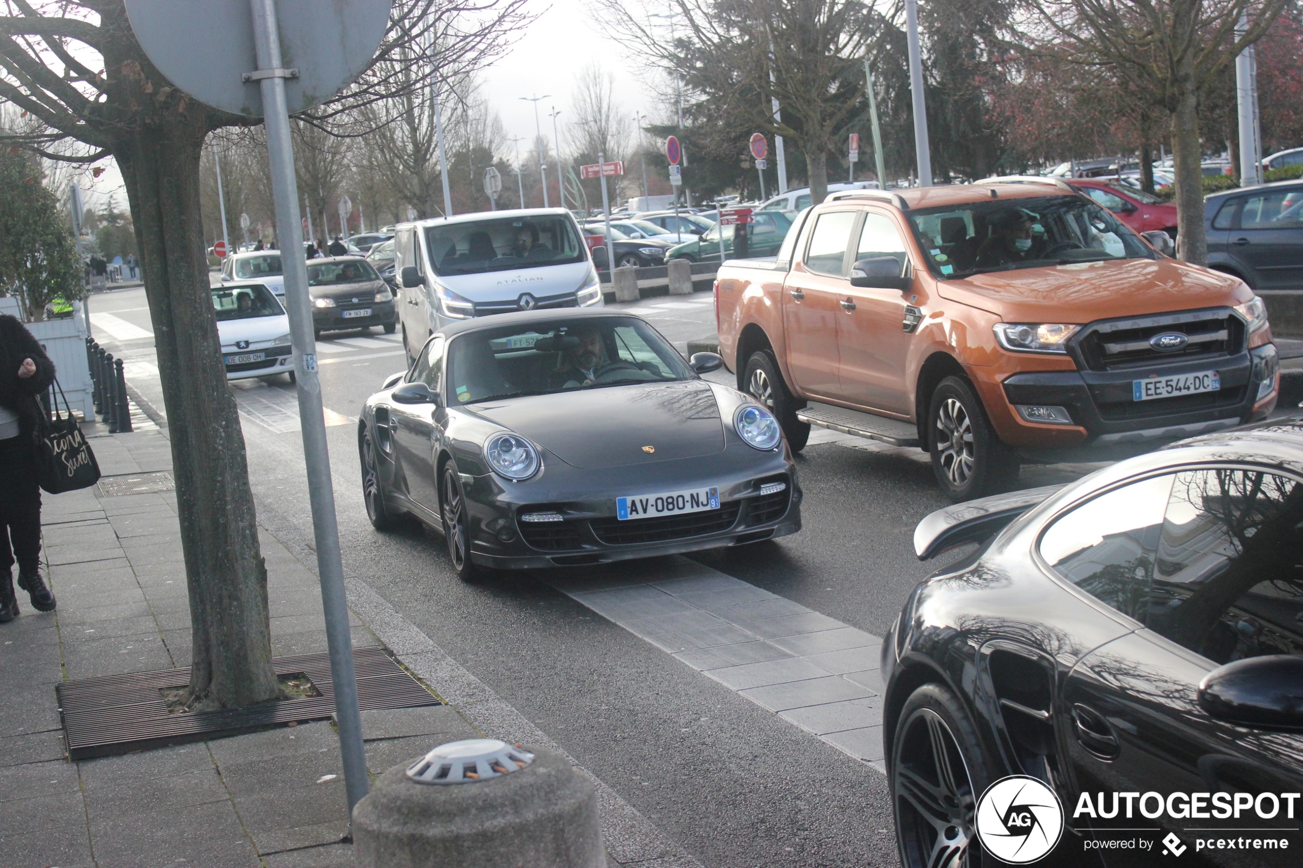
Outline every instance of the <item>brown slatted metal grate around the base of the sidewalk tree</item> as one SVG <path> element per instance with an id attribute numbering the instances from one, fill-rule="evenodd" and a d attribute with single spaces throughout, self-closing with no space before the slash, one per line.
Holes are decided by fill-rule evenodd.
<path id="1" fill-rule="evenodd" d="M 356 648 L 357 698 L 362 711 L 438 705 L 430 691 L 380 648 Z M 278 675 L 304 673 L 321 696 L 262 703 L 219 712 L 171 714 L 159 690 L 190 683 L 189 669 L 72 681 L 56 686 L 68 757 L 129 753 L 164 744 L 203 742 L 268 726 L 328 720 L 335 713 L 330 655 L 276 657 Z"/>

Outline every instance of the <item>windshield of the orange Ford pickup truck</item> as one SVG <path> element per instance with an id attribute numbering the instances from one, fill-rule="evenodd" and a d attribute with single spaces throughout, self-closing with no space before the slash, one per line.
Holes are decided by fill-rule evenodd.
<path id="1" fill-rule="evenodd" d="M 908 213 L 937 277 L 1154 258 L 1130 228 L 1084 197 L 992 199 Z"/>

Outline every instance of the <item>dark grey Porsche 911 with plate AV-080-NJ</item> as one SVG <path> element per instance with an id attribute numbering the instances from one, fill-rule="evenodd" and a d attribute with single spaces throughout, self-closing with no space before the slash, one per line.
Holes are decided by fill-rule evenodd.
<path id="1" fill-rule="evenodd" d="M 721 364 L 599 310 L 448 325 L 362 409 L 367 515 L 440 528 L 464 579 L 795 534 L 778 422 L 698 376 Z"/>

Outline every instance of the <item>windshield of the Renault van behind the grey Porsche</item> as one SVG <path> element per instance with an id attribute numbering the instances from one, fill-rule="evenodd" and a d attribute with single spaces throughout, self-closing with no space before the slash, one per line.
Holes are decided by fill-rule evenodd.
<path id="1" fill-rule="evenodd" d="M 584 262 L 588 251 L 562 215 L 439 224 L 425 230 L 434 273 L 480 275 Z"/>

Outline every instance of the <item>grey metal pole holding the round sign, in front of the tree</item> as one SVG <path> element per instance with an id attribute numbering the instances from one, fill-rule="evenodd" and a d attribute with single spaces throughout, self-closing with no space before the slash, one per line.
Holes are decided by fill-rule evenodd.
<path id="1" fill-rule="evenodd" d="M 291 241 L 300 226 L 294 152 L 289 133 L 289 108 L 285 102 L 285 77 L 291 70 L 284 69 L 281 61 L 275 0 L 250 0 L 250 5 L 258 59 L 258 70 L 253 75 L 259 79 L 262 91 L 267 157 L 271 163 L 271 193 L 276 206 L 276 232 L 283 241 L 280 259 L 285 276 L 285 307 L 298 381 L 298 418 L 304 436 L 304 463 L 308 466 L 308 498 L 313 511 L 317 570 L 321 574 L 322 608 L 326 614 L 326 642 L 330 647 L 339 750 L 344 766 L 348 811 L 352 817 L 353 806 L 370 789 L 370 778 L 366 774 L 366 753 L 362 750 L 357 670 L 353 668 L 344 565 L 335 518 L 335 488 L 330 475 L 322 385 L 317 373 L 317 341 L 313 337 L 313 311 L 308 298 L 308 263 L 304 259 L 302 245 L 293 245 Z"/>

